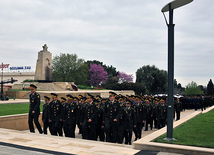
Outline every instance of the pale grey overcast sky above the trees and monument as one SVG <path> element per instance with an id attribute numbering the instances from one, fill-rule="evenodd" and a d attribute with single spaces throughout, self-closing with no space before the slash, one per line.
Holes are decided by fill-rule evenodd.
<path id="1" fill-rule="evenodd" d="M 167 70 L 169 0 L 0 0 L 0 62 L 32 66 L 47 44 L 53 56 L 77 54 L 135 76 L 144 65 Z M 175 79 L 214 80 L 214 0 L 174 10 Z M 168 19 L 168 13 L 165 14 Z"/>

